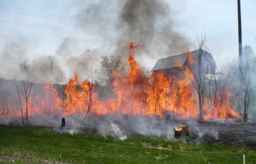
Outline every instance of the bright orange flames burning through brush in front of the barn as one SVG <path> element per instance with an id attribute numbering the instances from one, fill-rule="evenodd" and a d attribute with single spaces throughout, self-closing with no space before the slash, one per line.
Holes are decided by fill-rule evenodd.
<path id="1" fill-rule="evenodd" d="M 45 96 L 36 95 L 29 100 L 29 116 L 74 115 L 79 120 L 85 120 L 87 115 L 106 114 L 160 116 L 161 118 L 172 115 L 178 119 L 197 118 L 198 100 L 191 82 L 186 78 L 191 72 L 187 68 L 182 68 L 180 63 L 176 63 L 185 71 L 184 76 L 179 79 L 166 77 L 164 72 L 148 73 L 136 64 L 134 51 L 137 47 L 134 42 L 130 42 L 129 73 L 125 76 L 119 69 L 112 73 L 115 81 L 112 84 L 114 87 L 111 98 L 100 100 L 96 86 L 88 79 L 80 82 L 78 74 L 75 73 L 67 83 L 65 100 L 58 96 L 58 91 L 49 83 L 43 88 Z M 189 62 L 193 62 L 193 55 L 190 52 L 188 54 Z M 232 94 L 228 88 L 217 96 L 227 98 L 224 101 L 215 102 L 216 105 L 213 106 L 214 102 L 205 97 L 204 120 L 237 118 L 238 113 L 230 103 Z M 23 109 L 26 106 L 24 101 L 22 106 Z M 21 116 L 21 112 L 17 113 L 17 116 L 19 115 Z"/>

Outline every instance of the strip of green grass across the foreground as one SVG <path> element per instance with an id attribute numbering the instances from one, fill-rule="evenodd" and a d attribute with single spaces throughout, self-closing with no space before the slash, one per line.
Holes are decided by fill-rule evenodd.
<path id="1" fill-rule="evenodd" d="M 149 136 L 121 141 L 111 136 L 57 133 L 47 127 L 0 125 L 0 163 L 12 158 L 14 163 L 242 163 L 243 154 L 247 163 L 256 163 L 256 151 L 248 147 L 196 145 Z"/>

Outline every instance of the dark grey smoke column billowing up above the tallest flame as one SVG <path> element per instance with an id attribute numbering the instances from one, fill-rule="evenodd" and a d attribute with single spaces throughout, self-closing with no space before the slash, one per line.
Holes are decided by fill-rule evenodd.
<path id="1" fill-rule="evenodd" d="M 126 56 L 128 43 L 139 44 L 145 57 L 160 58 L 188 51 L 189 42 L 175 31 L 174 9 L 164 1 L 99 1 L 77 14 L 78 26 L 85 33 L 104 41 L 102 48 Z"/>

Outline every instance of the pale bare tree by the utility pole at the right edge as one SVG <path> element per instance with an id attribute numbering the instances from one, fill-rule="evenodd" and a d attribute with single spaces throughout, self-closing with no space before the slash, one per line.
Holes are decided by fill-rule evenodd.
<path id="1" fill-rule="evenodd" d="M 235 59 L 229 65 L 228 73 L 230 74 L 230 85 L 235 93 L 237 109 L 240 120 L 247 122 L 255 77 L 256 57 L 252 47 L 246 45 L 243 47 L 243 63 L 239 67 L 238 59 Z"/>

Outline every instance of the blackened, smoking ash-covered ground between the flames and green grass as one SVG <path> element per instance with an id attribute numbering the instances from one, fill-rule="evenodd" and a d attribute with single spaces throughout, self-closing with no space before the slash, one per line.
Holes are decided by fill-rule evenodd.
<path id="1" fill-rule="evenodd" d="M 199 122 L 196 120 L 164 120 L 148 116 L 105 115 L 88 117 L 84 123 L 68 121 L 67 126 L 58 131 L 70 133 L 100 133 L 124 140 L 131 135 L 163 136 L 169 140 L 174 137 L 174 127 L 188 126 L 190 136 L 186 142 L 214 143 L 233 146 L 249 146 L 256 149 L 256 122 L 234 121 Z M 181 140 L 184 138 L 181 138 Z"/>

